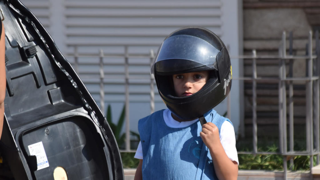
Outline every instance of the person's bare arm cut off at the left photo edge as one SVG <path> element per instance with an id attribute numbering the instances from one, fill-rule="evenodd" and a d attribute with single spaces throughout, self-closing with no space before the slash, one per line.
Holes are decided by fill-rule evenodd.
<path id="1" fill-rule="evenodd" d="M 1 20 L 0 20 L 1 21 Z M 0 22 L 2 23 L 2 22 Z M 4 26 L 2 26 L 2 33 L 0 37 L 0 138 L 3 128 L 3 118 L 4 118 L 4 97 L 5 97 L 5 44 L 4 44 Z"/>

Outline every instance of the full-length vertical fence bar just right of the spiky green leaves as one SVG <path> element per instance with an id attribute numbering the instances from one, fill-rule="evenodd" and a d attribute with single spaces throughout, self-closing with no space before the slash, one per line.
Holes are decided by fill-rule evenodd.
<path id="1" fill-rule="evenodd" d="M 125 149 L 130 151 L 130 119 L 129 119 L 129 55 L 128 46 L 124 46 L 124 71 L 125 71 Z"/>

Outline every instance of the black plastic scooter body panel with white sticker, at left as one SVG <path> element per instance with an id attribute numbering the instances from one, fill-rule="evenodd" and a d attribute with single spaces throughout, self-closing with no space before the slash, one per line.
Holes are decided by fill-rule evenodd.
<path id="1" fill-rule="evenodd" d="M 106 118 L 48 32 L 19 0 L 0 0 L 0 8 L 7 79 L 0 147 L 14 178 L 54 179 L 62 167 L 68 179 L 124 179 Z M 47 161 L 33 155 L 38 144 Z"/>

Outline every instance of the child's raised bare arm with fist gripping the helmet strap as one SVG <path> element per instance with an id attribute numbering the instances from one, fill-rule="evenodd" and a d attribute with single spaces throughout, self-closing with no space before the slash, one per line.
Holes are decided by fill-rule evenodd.
<path id="1" fill-rule="evenodd" d="M 220 142 L 218 127 L 208 122 L 202 126 L 200 136 L 204 144 L 209 148 L 218 179 L 236 180 L 238 176 L 237 162 L 231 161 L 224 151 Z"/>

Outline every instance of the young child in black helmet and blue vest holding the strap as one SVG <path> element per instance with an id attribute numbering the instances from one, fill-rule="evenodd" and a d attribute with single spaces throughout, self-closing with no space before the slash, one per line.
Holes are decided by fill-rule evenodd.
<path id="1" fill-rule="evenodd" d="M 212 109 L 232 80 L 220 38 L 203 28 L 177 30 L 162 43 L 151 72 L 168 109 L 139 120 L 134 179 L 237 179 L 234 128 Z"/>

